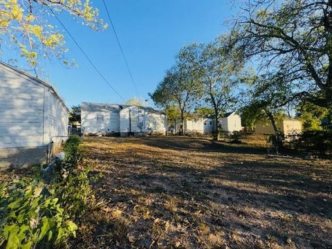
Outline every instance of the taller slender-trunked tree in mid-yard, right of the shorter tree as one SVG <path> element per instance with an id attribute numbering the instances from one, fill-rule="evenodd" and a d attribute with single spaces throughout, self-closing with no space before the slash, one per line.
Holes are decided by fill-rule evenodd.
<path id="1" fill-rule="evenodd" d="M 176 59 L 187 64 L 203 84 L 205 102 L 214 110 L 216 131 L 214 139 L 219 139 L 219 117 L 232 106 L 232 90 L 239 82 L 243 68 L 241 51 L 230 44 L 228 35 L 222 35 L 210 44 L 190 44 L 181 49 Z"/>

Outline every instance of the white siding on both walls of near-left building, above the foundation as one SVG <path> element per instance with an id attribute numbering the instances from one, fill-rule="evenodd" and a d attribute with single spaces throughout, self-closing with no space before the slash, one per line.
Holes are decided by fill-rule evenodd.
<path id="1" fill-rule="evenodd" d="M 45 146 L 67 129 L 68 109 L 50 86 L 0 63 L 0 148 Z"/>

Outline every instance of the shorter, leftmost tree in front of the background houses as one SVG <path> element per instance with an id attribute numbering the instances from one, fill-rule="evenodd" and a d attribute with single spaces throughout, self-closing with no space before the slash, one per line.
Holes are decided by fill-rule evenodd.
<path id="1" fill-rule="evenodd" d="M 178 109 L 182 125 L 181 133 L 185 135 L 185 116 L 202 95 L 201 82 L 196 75 L 185 64 L 177 64 L 167 71 L 163 82 L 160 82 L 156 91 L 149 95 L 157 106 Z"/>

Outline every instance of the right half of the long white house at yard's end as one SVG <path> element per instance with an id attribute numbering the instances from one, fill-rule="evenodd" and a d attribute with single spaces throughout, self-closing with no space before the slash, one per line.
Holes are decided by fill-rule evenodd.
<path id="1" fill-rule="evenodd" d="M 165 114 L 151 107 L 124 107 L 120 111 L 120 134 L 153 134 L 165 135 L 167 119 Z"/>

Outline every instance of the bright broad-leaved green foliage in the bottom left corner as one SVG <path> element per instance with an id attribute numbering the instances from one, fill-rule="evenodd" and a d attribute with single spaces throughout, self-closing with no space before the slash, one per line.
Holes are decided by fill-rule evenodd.
<path id="1" fill-rule="evenodd" d="M 13 181 L 0 186 L 0 247 L 44 248 L 75 237 L 77 225 L 40 181 Z"/>

